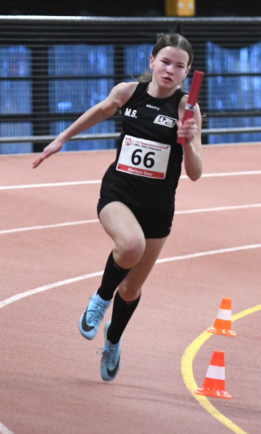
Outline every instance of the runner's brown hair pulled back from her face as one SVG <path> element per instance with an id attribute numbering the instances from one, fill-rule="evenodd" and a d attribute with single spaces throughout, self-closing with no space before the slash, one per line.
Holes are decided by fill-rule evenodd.
<path id="1" fill-rule="evenodd" d="M 152 56 L 156 57 L 159 51 L 165 47 L 178 47 L 186 51 L 189 55 L 189 62 L 187 66 L 190 66 L 193 60 L 193 49 L 189 41 L 184 38 L 184 36 L 178 33 L 171 33 L 169 35 L 163 35 L 154 45 L 152 50 Z M 145 71 L 139 78 L 139 82 L 148 82 L 152 80 L 152 73 L 150 71 Z"/>

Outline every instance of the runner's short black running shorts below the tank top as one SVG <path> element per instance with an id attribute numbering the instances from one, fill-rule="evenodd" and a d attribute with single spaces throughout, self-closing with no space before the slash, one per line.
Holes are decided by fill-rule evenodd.
<path id="1" fill-rule="evenodd" d="M 101 196 L 97 206 L 98 217 L 105 205 L 115 201 L 122 202 L 131 210 L 140 224 L 145 238 L 164 238 L 170 234 L 174 210 L 148 210 L 127 204 L 116 198 Z"/>

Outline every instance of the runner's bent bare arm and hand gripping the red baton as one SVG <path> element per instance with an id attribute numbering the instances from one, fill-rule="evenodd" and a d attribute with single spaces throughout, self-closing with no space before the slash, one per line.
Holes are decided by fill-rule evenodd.
<path id="1" fill-rule="evenodd" d="M 179 103 L 179 119 L 183 118 L 188 95 L 184 95 Z M 187 139 L 183 145 L 184 166 L 186 174 L 192 181 L 196 181 L 202 174 L 202 145 L 201 145 L 201 114 L 196 104 L 194 117 L 185 121 L 184 125 L 177 122 L 178 136 Z"/>

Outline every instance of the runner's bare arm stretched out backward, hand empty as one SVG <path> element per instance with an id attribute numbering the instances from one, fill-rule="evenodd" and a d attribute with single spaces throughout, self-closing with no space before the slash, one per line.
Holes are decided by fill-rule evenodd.
<path id="1" fill-rule="evenodd" d="M 69 128 L 59 134 L 52 143 L 46 146 L 42 154 L 33 161 L 33 168 L 39 166 L 45 158 L 60 151 L 65 141 L 113 115 L 118 107 L 121 107 L 130 99 L 137 84 L 137 82 L 117 84 L 104 101 L 99 102 L 91 107 L 91 109 L 87 110 L 87 112 L 80 116 Z"/>

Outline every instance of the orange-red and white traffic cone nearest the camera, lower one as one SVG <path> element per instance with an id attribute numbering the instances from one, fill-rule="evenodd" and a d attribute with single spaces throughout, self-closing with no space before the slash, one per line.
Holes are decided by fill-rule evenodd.
<path id="1" fill-rule="evenodd" d="M 217 398 L 231 399 L 225 391 L 225 353 L 213 351 L 212 359 L 206 373 L 202 388 L 195 390 L 197 395 L 216 396 Z"/>

